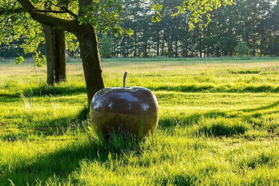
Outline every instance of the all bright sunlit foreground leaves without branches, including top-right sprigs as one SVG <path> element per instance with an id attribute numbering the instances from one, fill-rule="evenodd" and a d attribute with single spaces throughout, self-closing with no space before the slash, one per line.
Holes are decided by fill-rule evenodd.
<path id="1" fill-rule="evenodd" d="M 145 2 L 145 1 L 143 1 Z M 122 19 L 119 17 L 119 13 L 123 11 L 121 2 L 113 0 L 93 0 L 91 3 L 87 3 L 82 6 L 81 10 L 78 7 L 78 1 L 58 1 L 58 0 L 45 0 L 45 1 L 32 1 L 36 10 L 39 12 L 44 12 L 48 15 L 59 17 L 65 20 L 78 19 L 80 23 L 89 23 L 91 24 L 96 32 L 98 33 L 113 33 L 116 37 L 118 34 L 122 36 L 132 35 L 134 31 L 131 28 L 125 28 L 122 25 Z M 151 11 L 155 12 L 154 16 L 151 16 L 152 22 L 158 22 L 162 20 L 162 11 L 163 5 L 161 3 L 156 3 L 156 0 L 150 1 Z M 213 6 L 215 8 L 219 7 L 220 4 L 232 4 L 232 1 L 209 1 L 203 0 L 199 2 L 187 3 L 184 1 L 181 6 L 177 7 L 178 11 L 172 15 L 178 15 L 180 13 L 185 13 L 186 7 L 192 12 L 189 29 L 193 29 L 194 25 L 192 22 L 200 22 L 201 25 L 201 15 L 211 11 Z M 8 44 L 14 40 L 17 40 L 19 36 L 24 36 L 24 44 L 20 47 L 24 49 L 25 53 L 33 53 L 33 57 L 38 57 L 35 61 L 39 61 L 39 58 L 43 56 L 40 55 L 38 51 L 38 45 L 43 43 L 42 37 L 42 27 L 35 23 L 27 13 L 24 13 L 22 7 L 15 0 L 3 0 L 0 5 L 0 10 L 2 13 L 0 17 L 3 18 L 3 21 L 6 21 L 11 27 L 16 27 L 13 29 L 4 30 L 2 27 L 2 32 L 0 32 L 0 39 L 2 42 Z M 202 10 L 202 11 L 201 11 Z M 24 18 L 20 17 L 24 15 Z M 210 14 L 207 14 L 209 19 Z M 28 25 L 27 25 L 28 24 Z M 206 23 L 207 24 L 207 23 Z M 1 24 L 2 25 L 2 24 Z M 6 26 L 6 24 L 4 24 Z M 27 29 L 28 28 L 28 29 Z M 29 30 L 28 32 L 25 32 Z M 10 37 L 11 35 L 14 37 Z M 67 34 L 67 43 L 70 50 L 76 50 L 78 42 L 73 41 L 73 35 Z M 38 62 L 36 65 L 41 66 L 45 61 L 44 59 Z"/>

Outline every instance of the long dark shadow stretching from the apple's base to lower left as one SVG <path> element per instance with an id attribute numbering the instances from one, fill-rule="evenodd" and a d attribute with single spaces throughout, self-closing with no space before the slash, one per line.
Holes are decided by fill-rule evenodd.
<path id="1" fill-rule="evenodd" d="M 49 181 L 49 178 L 53 178 L 54 175 L 60 181 L 67 180 L 69 174 L 80 170 L 82 160 L 101 162 L 109 168 L 111 166 L 109 158 L 112 157 L 114 161 L 116 154 L 119 156 L 123 152 L 136 150 L 139 146 L 139 141 L 133 140 L 131 136 L 127 135 L 112 135 L 108 140 L 96 138 L 90 132 L 82 135 L 77 137 L 82 139 L 76 139 L 65 146 L 58 146 L 51 153 L 23 158 L 13 166 L 1 164 L 0 183 L 10 185 L 8 181 L 10 179 L 15 185 L 27 183 L 33 185 L 37 181 L 46 184 L 46 181 Z M 71 184 L 79 181 L 71 179 Z"/>

